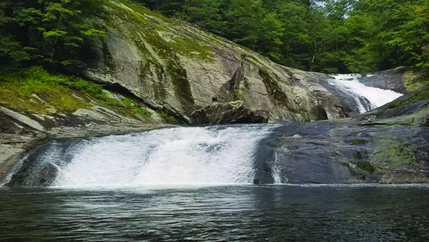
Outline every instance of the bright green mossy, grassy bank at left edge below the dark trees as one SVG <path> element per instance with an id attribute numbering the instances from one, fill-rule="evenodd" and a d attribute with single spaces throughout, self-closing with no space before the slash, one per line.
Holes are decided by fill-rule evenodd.
<path id="1" fill-rule="evenodd" d="M 22 111 L 74 111 L 90 106 L 85 95 L 102 96 L 102 87 L 78 77 L 53 75 L 34 66 L 0 77 L 0 104 Z"/>

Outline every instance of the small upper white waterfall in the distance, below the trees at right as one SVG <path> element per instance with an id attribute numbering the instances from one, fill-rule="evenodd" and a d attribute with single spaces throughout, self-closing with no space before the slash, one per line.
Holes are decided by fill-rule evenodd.
<path id="1" fill-rule="evenodd" d="M 330 84 L 352 96 L 360 113 L 365 113 L 366 111 L 383 106 L 403 95 L 390 90 L 365 86 L 358 80 L 359 77 L 361 77 L 360 74 L 337 74 L 332 75 L 332 77 L 334 77 L 334 79 L 330 80 Z M 363 98 L 370 102 L 369 105 L 362 102 Z"/>

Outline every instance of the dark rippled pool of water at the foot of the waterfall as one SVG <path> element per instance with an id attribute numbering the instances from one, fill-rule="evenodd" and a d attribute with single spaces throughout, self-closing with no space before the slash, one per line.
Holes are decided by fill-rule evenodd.
<path id="1" fill-rule="evenodd" d="M 0 241 L 429 241 L 429 186 L 3 187 Z"/>

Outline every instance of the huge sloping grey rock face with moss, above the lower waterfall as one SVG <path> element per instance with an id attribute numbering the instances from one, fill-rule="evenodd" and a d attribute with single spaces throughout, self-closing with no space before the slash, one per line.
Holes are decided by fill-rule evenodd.
<path id="1" fill-rule="evenodd" d="M 266 113 L 268 122 L 345 117 L 339 97 L 325 88 L 327 75 L 274 64 L 128 3 L 113 1 L 111 8 L 115 15 L 105 23 L 106 38 L 93 48 L 97 58 L 82 71 L 89 79 L 123 86 L 149 106 L 191 124 L 211 123 L 192 115 L 195 111 L 236 101 L 250 113 Z"/>

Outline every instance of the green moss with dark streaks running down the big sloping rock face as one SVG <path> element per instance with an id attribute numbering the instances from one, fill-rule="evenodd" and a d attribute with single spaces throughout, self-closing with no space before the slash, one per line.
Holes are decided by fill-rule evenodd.
<path id="1" fill-rule="evenodd" d="M 123 8 L 119 5 L 120 8 Z M 213 53 L 202 46 L 198 41 L 183 37 L 173 29 L 165 30 L 163 24 L 158 21 L 159 16 L 152 16 L 146 9 L 126 3 L 123 12 L 127 12 L 123 18 L 125 21 L 113 22 L 113 27 L 120 29 L 128 39 L 137 46 L 141 56 L 146 63 L 141 64 L 140 80 L 144 80 L 146 75 L 155 73 L 156 78 L 152 79 L 153 94 L 157 99 L 164 100 L 168 89 L 172 87 L 175 97 L 185 110 L 192 109 L 194 100 L 189 84 L 187 71 L 182 67 L 178 54 L 187 53 L 187 56 L 210 59 Z M 118 10 L 119 11 L 119 10 Z M 121 12 L 121 11 L 119 11 Z M 155 20 L 153 19 L 155 18 Z M 128 28 L 121 26 L 125 24 Z M 173 35 L 173 40 L 164 38 L 164 35 Z M 150 49 L 149 49 L 150 48 Z"/>

